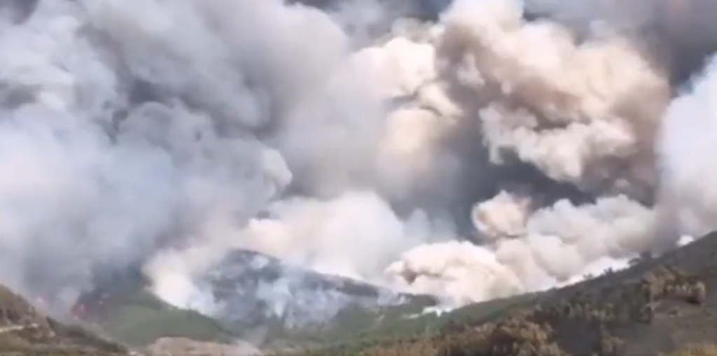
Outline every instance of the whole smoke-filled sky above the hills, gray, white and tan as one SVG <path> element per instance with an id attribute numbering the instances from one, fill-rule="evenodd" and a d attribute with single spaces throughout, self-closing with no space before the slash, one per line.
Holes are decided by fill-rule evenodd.
<path id="1" fill-rule="evenodd" d="M 716 228 L 717 6 L 618 2 L 5 1 L 0 282 L 186 306 L 251 249 L 458 305 Z"/>

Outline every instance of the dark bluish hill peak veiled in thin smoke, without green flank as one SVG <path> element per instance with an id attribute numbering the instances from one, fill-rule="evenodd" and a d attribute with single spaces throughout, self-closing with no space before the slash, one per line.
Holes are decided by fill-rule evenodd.
<path id="1" fill-rule="evenodd" d="M 263 329 L 268 339 L 335 339 L 367 327 L 388 309 L 415 313 L 436 303 L 243 250 L 229 254 L 208 280 L 221 306 L 217 319 L 236 330 Z"/>

